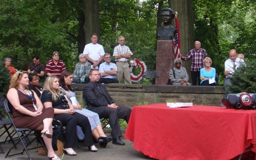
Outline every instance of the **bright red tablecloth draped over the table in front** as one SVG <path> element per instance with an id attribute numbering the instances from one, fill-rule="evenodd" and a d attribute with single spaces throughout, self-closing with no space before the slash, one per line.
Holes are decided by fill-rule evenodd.
<path id="1" fill-rule="evenodd" d="M 256 152 L 256 110 L 216 106 L 135 106 L 125 138 L 156 159 L 232 159 Z"/>

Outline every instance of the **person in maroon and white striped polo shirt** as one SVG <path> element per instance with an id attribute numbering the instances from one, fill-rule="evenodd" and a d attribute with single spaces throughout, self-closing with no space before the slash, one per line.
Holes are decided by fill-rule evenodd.
<path id="1" fill-rule="evenodd" d="M 46 75 L 55 75 L 60 77 L 62 71 L 66 69 L 66 66 L 62 60 L 60 60 L 60 54 L 58 51 L 53 51 L 52 59 L 46 63 Z"/>

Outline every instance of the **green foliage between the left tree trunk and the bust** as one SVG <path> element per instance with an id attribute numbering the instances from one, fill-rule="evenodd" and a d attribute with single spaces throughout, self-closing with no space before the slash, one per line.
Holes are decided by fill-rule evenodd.
<path id="1" fill-rule="evenodd" d="M 155 68 L 156 8 L 155 3 L 139 1 L 100 1 L 101 44 L 105 52 L 113 53 L 118 37 L 126 38 L 126 45 L 148 68 Z"/>

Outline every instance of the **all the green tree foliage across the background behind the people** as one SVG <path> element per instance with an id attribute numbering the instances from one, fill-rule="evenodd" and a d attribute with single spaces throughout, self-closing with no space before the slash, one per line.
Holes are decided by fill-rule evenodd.
<path id="1" fill-rule="evenodd" d="M 182 2 L 186 1 L 191 3 L 190 0 Z M 15 68 L 27 70 L 32 55 L 39 55 L 40 62 L 46 64 L 52 52 L 57 50 L 67 68 L 73 70 L 78 54 L 85 45 L 85 36 L 91 34 L 81 32 L 85 23 L 82 19 L 87 14 L 83 5 L 89 1 L 1 2 L 0 59 L 10 57 Z M 118 45 L 118 36 L 125 36 L 126 45 L 134 53 L 133 58 L 139 58 L 147 64 L 148 69 L 153 70 L 156 64 L 156 27 L 160 25 L 157 16 L 160 8 L 174 6 L 179 15 L 183 14 L 185 7 L 187 9 L 187 6 L 182 8 L 180 4 L 177 5 L 181 1 L 170 0 L 97 2 L 100 15 L 99 38 L 105 52 L 112 54 L 114 46 Z M 255 59 L 255 1 L 193 0 L 192 5 L 195 40 L 201 41 L 220 77 L 224 77 L 224 62 L 228 59 L 230 49 L 237 49 L 238 53 L 245 54 L 246 59 Z M 193 16 L 189 19 L 186 19 L 187 16 L 180 18 L 180 21 L 191 20 Z M 180 28 L 184 27 L 187 25 L 180 23 Z M 181 47 L 186 44 L 183 46 L 185 49 L 181 48 L 183 54 L 191 46 L 191 43 L 184 42 L 189 40 L 189 35 L 193 37 L 191 32 L 181 33 L 186 36 L 181 39 Z"/>

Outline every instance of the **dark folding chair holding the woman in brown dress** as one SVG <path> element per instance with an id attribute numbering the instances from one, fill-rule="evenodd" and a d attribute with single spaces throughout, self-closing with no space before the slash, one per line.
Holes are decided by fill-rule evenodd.
<path id="1" fill-rule="evenodd" d="M 28 150 L 31 149 L 36 149 L 36 148 L 40 148 L 43 146 L 43 148 L 46 150 L 47 153 L 47 149 L 44 146 L 44 143 L 42 141 L 42 138 L 40 137 L 40 132 L 33 130 L 33 129 L 28 129 L 28 128 L 17 128 L 13 122 L 13 116 L 12 114 L 12 108 L 11 105 L 9 104 L 8 100 L 5 100 L 4 102 L 4 106 L 5 106 L 5 111 L 7 113 L 7 115 L 9 116 L 9 119 L 11 120 L 11 123 L 14 127 L 14 132 L 16 135 L 18 135 L 18 140 L 15 141 L 14 145 L 9 149 L 9 151 L 7 152 L 7 154 L 5 155 L 6 157 L 10 157 L 12 155 L 18 155 L 18 154 L 23 154 L 24 152 L 27 153 L 27 156 L 29 159 L 31 159 L 30 154 L 28 153 Z M 27 148 L 29 145 L 32 144 L 32 142 L 34 142 L 35 140 L 37 140 L 37 137 L 40 137 L 40 143 L 42 144 L 42 146 L 36 146 L 36 147 L 32 147 L 32 148 Z M 11 136 L 12 138 L 13 136 Z M 10 154 L 11 150 L 13 150 L 14 148 L 16 148 L 16 145 L 19 144 L 19 142 L 22 144 L 23 146 L 23 151 L 19 152 L 19 153 L 15 153 L 15 154 Z"/>

